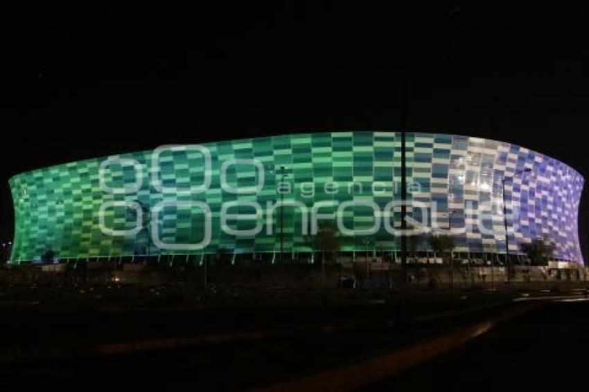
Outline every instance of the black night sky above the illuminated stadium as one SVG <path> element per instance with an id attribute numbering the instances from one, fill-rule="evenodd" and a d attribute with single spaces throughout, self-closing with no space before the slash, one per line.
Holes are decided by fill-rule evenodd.
<path id="1" fill-rule="evenodd" d="M 589 178 L 587 9 L 214 3 L 1 12 L 1 238 L 18 172 L 162 143 L 399 130 L 405 76 L 410 130 L 517 143 Z M 585 193 L 586 258 L 588 233 Z"/>

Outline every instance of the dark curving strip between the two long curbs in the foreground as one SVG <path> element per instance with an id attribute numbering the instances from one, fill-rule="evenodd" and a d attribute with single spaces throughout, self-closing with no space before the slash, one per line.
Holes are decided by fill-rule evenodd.
<path id="1" fill-rule="evenodd" d="M 498 310 L 497 310 L 498 311 Z M 354 330 L 288 339 L 263 339 L 76 360 L 45 360 L 2 366 L 4 384 L 100 384 L 242 389 L 292 380 L 330 368 L 362 362 L 418 344 L 489 315 L 458 317 L 422 325 Z"/>

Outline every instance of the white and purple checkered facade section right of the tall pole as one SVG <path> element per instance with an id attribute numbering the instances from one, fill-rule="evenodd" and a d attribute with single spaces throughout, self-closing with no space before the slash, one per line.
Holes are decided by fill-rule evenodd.
<path id="1" fill-rule="evenodd" d="M 510 253 L 544 238 L 555 242 L 556 258 L 583 262 L 577 171 L 518 145 L 468 136 L 407 134 L 406 148 L 407 182 L 423 184 L 410 197 L 437 202 L 440 226 L 468 226 L 456 235 L 457 251 L 505 253 L 504 188 Z"/>

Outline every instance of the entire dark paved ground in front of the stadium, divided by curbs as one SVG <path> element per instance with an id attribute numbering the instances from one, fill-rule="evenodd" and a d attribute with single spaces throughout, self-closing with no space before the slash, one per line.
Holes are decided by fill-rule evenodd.
<path id="1" fill-rule="evenodd" d="M 507 302 L 457 314 L 450 321 L 434 318 L 401 325 L 395 323 L 398 302 L 380 294 L 354 293 L 351 298 L 355 300 L 348 301 L 347 294 L 334 297 L 326 293 L 307 293 L 303 299 L 315 300 L 305 303 L 293 302 L 290 297 L 286 302 L 280 301 L 280 295 L 276 294 L 273 301 L 256 306 L 247 305 L 247 301 L 218 301 L 213 306 L 204 299 L 187 307 L 186 301 L 174 300 L 173 290 L 164 294 L 167 289 L 155 288 L 160 292 L 157 295 L 152 289 L 144 289 L 139 296 L 146 298 L 149 294 L 152 300 L 136 303 L 123 301 L 137 298 L 135 294 L 125 293 L 125 287 L 94 287 L 93 290 L 89 287 L 11 287 L 10 292 L 0 298 L 3 314 L 0 341 L 5 352 L 24 348 L 67 352 L 78 348 L 80 353 L 74 359 L 49 357 L 3 364 L 0 384 L 188 384 L 207 389 L 263 386 L 362 362 L 526 306 L 525 301 L 511 301 L 513 296 L 522 294 L 513 291 L 455 297 L 414 296 L 408 307 L 412 319 L 491 305 L 498 300 Z M 554 294 L 568 293 L 538 291 L 531 296 Z M 574 384 L 584 377 L 581 368 L 589 346 L 588 310 L 589 303 L 581 302 L 543 305 L 491 330 L 455 353 L 384 380 L 371 389 L 496 390 L 505 386 L 504 377 L 515 377 L 507 383 L 509 386 Z M 383 321 L 393 323 L 389 325 Z M 303 332 L 125 355 L 96 357 L 83 350 L 96 344 L 137 339 L 350 323 L 355 323 L 353 330 Z"/>

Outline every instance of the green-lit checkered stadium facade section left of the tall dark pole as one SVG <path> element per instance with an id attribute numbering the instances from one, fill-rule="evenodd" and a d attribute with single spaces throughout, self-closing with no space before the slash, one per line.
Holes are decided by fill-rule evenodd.
<path id="1" fill-rule="evenodd" d="M 279 208 L 271 216 L 272 233 L 267 233 L 263 220 L 261 233 L 252 236 L 229 235 L 221 230 L 220 211 L 227 202 L 257 202 L 267 216 L 267 202 L 280 201 L 276 186 L 281 181 L 281 166 L 287 173 L 285 182 L 292 191 L 284 201 L 297 201 L 309 210 L 317 202 L 369 199 L 383 207 L 393 197 L 393 132 L 334 132 L 293 134 L 238 141 L 207 143 L 211 152 L 211 184 L 204 193 L 168 192 L 170 188 L 195 188 L 203 184 L 204 157 L 200 152 L 164 152 L 159 156 L 161 188 L 152 186 L 150 168 L 152 152 L 121 154 L 115 157 L 89 159 L 66 165 L 26 172 L 10 179 L 15 204 L 15 241 L 12 260 L 38 260 L 47 249 L 60 258 L 122 256 L 145 253 L 149 233 L 142 229 L 133 235 L 109 235 L 100 230 L 100 206 L 109 202 L 141 202 L 153 208 L 159 202 L 204 202 L 211 208 L 211 241 L 206 253 L 226 248 L 238 253 L 274 252 L 279 249 Z M 137 168 L 121 161 L 103 172 L 100 165 L 107 159 L 134 159 Z M 263 187 L 256 193 L 233 194 L 221 188 L 222 163 L 233 159 L 255 159 L 264 168 Z M 237 163 L 227 168 L 227 185 L 254 188 L 258 170 L 252 164 Z M 337 193 L 328 184 L 337 181 Z M 378 181 L 378 195 L 373 195 L 373 181 Z M 134 189 L 136 185 L 138 189 Z M 150 185 L 151 184 L 151 185 Z M 326 184 L 328 188 L 326 188 Z M 127 190 L 128 193 L 107 193 Z M 319 213 L 333 213 L 336 206 L 320 208 Z M 235 211 L 234 211 L 235 210 Z M 250 214 L 252 208 L 240 206 L 229 213 Z M 239 211 L 236 211 L 239 210 Z M 309 251 L 310 242 L 302 233 L 300 209 L 286 206 L 284 213 L 285 251 Z M 344 224 L 349 229 L 371 226 L 373 214 L 366 208 L 349 208 Z M 114 231 L 132 231 L 137 215 L 129 206 L 117 204 L 104 212 L 104 223 Z M 255 220 L 229 220 L 232 229 L 252 229 Z M 159 213 L 159 237 L 166 244 L 195 244 L 203 239 L 204 217 L 197 207 L 166 206 Z M 342 238 L 342 250 L 357 248 L 354 238 Z M 394 249 L 395 239 L 381 229 L 373 242 L 384 249 Z M 363 249 L 363 248 L 362 248 Z M 150 254 L 202 253 L 203 251 L 157 249 L 150 244 Z"/>

